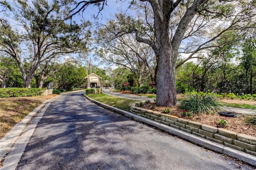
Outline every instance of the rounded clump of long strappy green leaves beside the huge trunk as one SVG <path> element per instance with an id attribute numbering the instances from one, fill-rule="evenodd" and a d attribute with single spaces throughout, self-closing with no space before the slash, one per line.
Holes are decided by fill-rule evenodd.
<path id="1" fill-rule="evenodd" d="M 181 101 L 180 109 L 192 113 L 212 113 L 218 111 L 222 105 L 216 97 L 208 93 L 194 93 L 186 96 Z"/>

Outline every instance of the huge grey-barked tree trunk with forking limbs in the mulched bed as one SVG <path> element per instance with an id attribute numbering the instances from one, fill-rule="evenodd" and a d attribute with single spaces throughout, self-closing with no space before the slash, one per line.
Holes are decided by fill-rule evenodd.
<path id="1" fill-rule="evenodd" d="M 177 30 L 171 39 L 170 37 L 170 16 L 175 8 L 182 2 L 170 0 L 140 0 L 148 1 L 154 12 L 154 31 L 156 36 L 156 44 L 150 40 L 140 37 L 138 30 L 136 40 L 138 42 L 147 43 L 155 51 L 158 58 L 157 72 L 157 106 L 173 106 L 176 105 L 176 80 L 175 80 L 175 64 L 178 57 L 178 49 L 182 38 L 186 32 L 186 27 L 198 11 L 198 8 L 208 0 L 195 0 L 189 7 L 187 4 L 186 13 L 180 20 Z"/>

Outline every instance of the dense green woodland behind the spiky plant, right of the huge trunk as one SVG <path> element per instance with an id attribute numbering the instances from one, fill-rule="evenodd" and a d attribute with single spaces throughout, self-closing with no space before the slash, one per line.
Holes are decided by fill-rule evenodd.
<path id="1" fill-rule="evenodd" d="M 230 37 L 232 38 L 232 37 Z M 201 56 L 198 63 L 185 63 L 177 69 L 176 79 L 197 91 L 214 93 L 256 93 L 255 37 L 223 45 Z"/>

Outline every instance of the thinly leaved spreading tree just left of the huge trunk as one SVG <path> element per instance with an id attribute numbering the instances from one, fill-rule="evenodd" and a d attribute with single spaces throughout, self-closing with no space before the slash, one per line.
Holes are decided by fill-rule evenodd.
<path id="1" fill-rule="evenodd" d="M 154 51 L 150 46 L 136 42 L 131 34 L 116 37 L 120 27 L 112 20 L 98 30 L 96 40 L 100 48 L 96 54 L 102 63 L 129 69 L 133 74 L 130 76 L 139 87 L 147 79 L 154 81 Z"/>

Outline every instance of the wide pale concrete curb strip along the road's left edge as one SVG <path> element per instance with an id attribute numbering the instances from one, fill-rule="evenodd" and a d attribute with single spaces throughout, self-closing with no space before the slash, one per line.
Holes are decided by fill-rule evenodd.
<path id="1" fill-rule="evenodd" d="M 52 101 L 60 97 L 58 95 L 52 99 L 44 101 L 34 111 L 28 114 L 22 121 L 17 123 L 1 140 L 0 161 L 3 160 L 1 170 L 15 170 L 20 162 L 20 158 L 32 136 L 36 125 L 44 115 L 44 112 Z M 42 109 L 43 108 L 43 109 Z M 42 109 L 42 111 L 40 111 Z M 38 111 L 40 111 L 38 113 Z M 36 115 L 37 114 L 37 115 Z M 34 117 L 35 116 L 35 117 Z M 32 119 L 34 117 L 34 119 Z"/>

